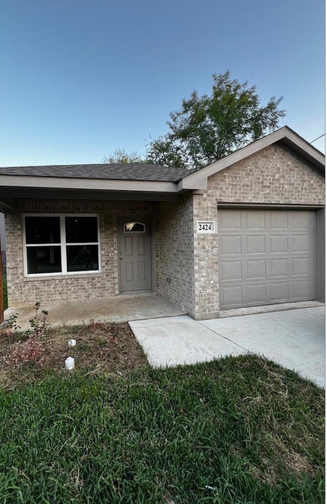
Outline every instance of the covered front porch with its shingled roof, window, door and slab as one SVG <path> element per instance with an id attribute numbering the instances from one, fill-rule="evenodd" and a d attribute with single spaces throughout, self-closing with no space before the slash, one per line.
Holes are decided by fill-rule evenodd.
<path id="1" fill-rule="evenodd" d="M 5 319 L 14 312 L 28 323 L 36 300 L 50 323 L 54 313 L 66 323 L 170 316 L 150 299 L 138 309 L 129 299 L 139 293 L 193 313 L 189 173 L 138 163 L 4 168 Z"/>

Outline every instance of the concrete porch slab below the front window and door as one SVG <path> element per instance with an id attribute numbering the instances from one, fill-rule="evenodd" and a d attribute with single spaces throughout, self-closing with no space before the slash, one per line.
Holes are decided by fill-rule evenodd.
<path id="1" fill-rule="evenodd" d="M 52 326 L 78 325 L 88 323 L 90 319 L 103 322 L 128 322 L 129 320 L 143 320 L 154 317 L 174 317 L 184 315 L 185 312 L 172 305 L 156 294 L 150 295 L 121 295 L 111 299 L 79 301 L 71 303 L 41 303 L 41 310 L 47 310 L 48 321 Z M 14 306 L 5 311 L 5 320 L 10 315 L 18 313 L 18 324 L 22 331 L 29 327 L 29 320 L 34 317 L 32 306 Z"/>

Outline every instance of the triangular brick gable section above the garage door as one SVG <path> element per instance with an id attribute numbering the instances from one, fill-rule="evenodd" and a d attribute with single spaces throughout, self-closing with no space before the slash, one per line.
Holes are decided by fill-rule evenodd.
<path id="1" fill-rule="evenodd" d="M 216 203 L 324 205 L 325 179 L 275 144 L 209 178 Z"/>

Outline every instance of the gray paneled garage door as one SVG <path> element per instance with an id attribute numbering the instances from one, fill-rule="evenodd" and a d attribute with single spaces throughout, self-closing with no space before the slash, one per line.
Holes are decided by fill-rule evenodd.
<path id="1" fill-rule="evenodd" d="M 220 309 L 315 297 L 316 214 L 218 210 Z"/>

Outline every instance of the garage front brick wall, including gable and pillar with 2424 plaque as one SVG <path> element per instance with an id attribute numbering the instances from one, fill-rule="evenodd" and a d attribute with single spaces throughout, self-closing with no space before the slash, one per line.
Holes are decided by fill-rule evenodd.
<path id="1" fill-rule="evenodd" d="M 275 144 L 208 179 L 204 195 L 194 195 L 194 223 L 217 221 L 219 203 L 324 205 L 325 180 Z M 194 228 L 196 229 L 196 228 Z M 217 234 L 194 238 L 195 318 L 219 314 Z"/>

